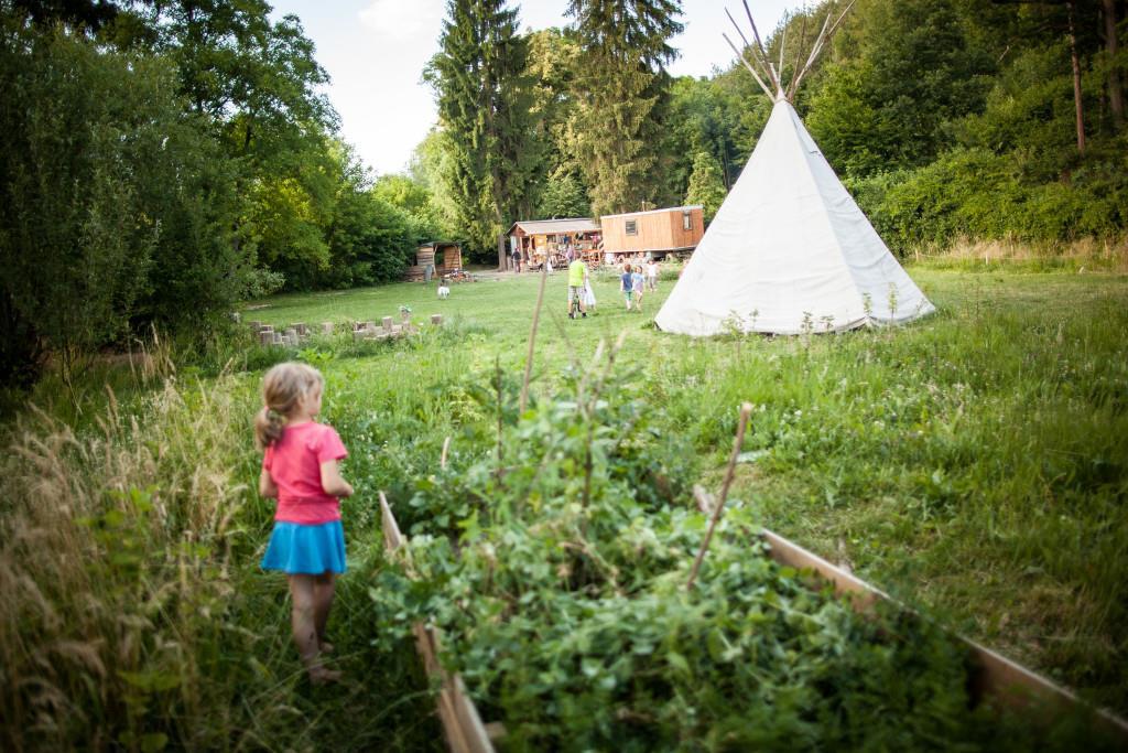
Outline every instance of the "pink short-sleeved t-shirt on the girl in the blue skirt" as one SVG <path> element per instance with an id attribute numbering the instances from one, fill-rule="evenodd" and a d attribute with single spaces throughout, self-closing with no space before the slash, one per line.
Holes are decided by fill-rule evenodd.
<path id="1" fill-rule="evenodd" d="M 346 455 L 331 426 L 310 421 L 287 427 L 263 456 L 263 467 L 279 488 L 274 519 L 307 525 L 340 520 L 341 502 L 321 489 L 321 463 Z"/>

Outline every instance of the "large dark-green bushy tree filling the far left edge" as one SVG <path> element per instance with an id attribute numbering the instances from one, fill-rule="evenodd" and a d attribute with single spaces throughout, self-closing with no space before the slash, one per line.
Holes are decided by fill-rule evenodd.
<path id="1" fill-rule="evenodd" d="M 5 24 L 0 96 L 23 103 L 0 115 L 5 383 L 39 349 L 69 380 L 131 322 L 203 322 L 245 292 L 233 175 L 175 90 L 167 60 Z"/>

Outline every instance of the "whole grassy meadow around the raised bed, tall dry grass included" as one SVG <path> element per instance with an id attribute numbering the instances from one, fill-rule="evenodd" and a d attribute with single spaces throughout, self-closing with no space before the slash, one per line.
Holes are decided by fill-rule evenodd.
<path id="1" fill-rule="evenodd" d="M 556 274 L 531 391 L 625 333 L 617 368 L 690 441 L 682 472 L 712 487 L 737 406 L 754 403 L 733 504 L 1123 715 L 1128 275 L 1082 266 L 926 261 L 910 273 L 938 310 L 909 326 L 711 340 L 653 327 L 670 279 L 638 314 L 597 275 L 597 312 L 569 321 Z M 520 383 L 538 284 L 276 296 L 244 319 L 341 332 L 297 350 L 151 345 L 143 368 L 91 369 L 81 413 L 44 383 L 3 427 L 0 746 L 440 750 L 412 648 L 372 646 L 377 490 L 403 504 L 447 437 L 456 466 L 491 452 L 482 393 L 497 370 Z M 399 342 L 344 333 L 399 306 L 446 322 Z M 338 688 L 302 678 L 284 584 L 257 568 L 272 508 L 254 491 L 250 418 L 263 370 L 296 357 L 326 375 L 358 489 L 329 625 Z"/>

